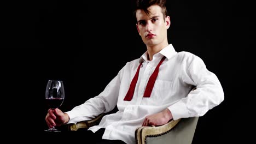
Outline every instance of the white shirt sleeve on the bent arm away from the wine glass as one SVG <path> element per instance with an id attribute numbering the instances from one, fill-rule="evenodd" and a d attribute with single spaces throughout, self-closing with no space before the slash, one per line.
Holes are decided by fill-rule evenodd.
<path id="1" fill-rule="evenodd" d="M 201 58 L 190 53 L 182 64 L 181 77 L 186 85 L 194 85 L 196 89 L 168 107 L 174 120 L 203 116 L 224 100 L 223 88 L 217 76 L 207 70 Z"/>

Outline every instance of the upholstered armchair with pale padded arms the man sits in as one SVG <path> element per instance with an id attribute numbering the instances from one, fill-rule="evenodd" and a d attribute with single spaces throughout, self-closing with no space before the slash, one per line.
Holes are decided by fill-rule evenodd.
<path id="1" fill-rule="evenodd" d="M 104 113 L 91 121 L 82 121 L 76 124 L 69 124 L 71 131 L 88 129 L 100 123 Z M 170 121 L 167 124 L 157 127 L 139 127 L 135 131 L 136 144 L 188 144 L 192 143 L 198 117 L 181 118 Z"/>

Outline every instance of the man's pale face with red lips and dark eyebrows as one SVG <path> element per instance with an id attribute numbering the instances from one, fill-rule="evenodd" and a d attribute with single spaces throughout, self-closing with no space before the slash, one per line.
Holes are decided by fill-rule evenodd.
<path id="1" fill-rule="evenodd" d="M 147 46 L 154 46 L 167 41 L 167 29 L 170 27 L 170 17 L 164 19 L 162 9 L 158 5 L 152 5 L 148 8 L 147 15 L 144 10 L 136 11 L 137 30 L 143 42 Z"/>

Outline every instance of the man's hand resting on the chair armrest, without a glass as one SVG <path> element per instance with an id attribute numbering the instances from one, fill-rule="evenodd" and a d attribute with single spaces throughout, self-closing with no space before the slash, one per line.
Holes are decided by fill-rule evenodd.
<path id="1" fill-rule="evenodd" d="M 142 126 L 163 125 L 168 123 L 170 119 L 172 119 L 172 113 L 169 109 L 165 109 L 159 113 L 155 113 L 154 115 L 147 116 L 144 119 Z"/>

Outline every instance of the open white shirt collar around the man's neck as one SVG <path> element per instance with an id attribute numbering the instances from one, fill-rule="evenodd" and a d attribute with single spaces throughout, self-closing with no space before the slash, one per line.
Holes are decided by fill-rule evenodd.
<path id="1" fill-rule="evenodd" d="M 166 46 L 164 49 L 162 49 L 160 52 L 155 53 L 155 55 L 162 55 L 165 56 L 167 59 L 170 59 L 172 56 L 174 56 L 177 52 L 175 51 L 172 44 Z M 139 58 L 139 63 L 143 61 L 147 61 L 148 57 L 148 51 L 144 52 L 143 55 Z"/>

